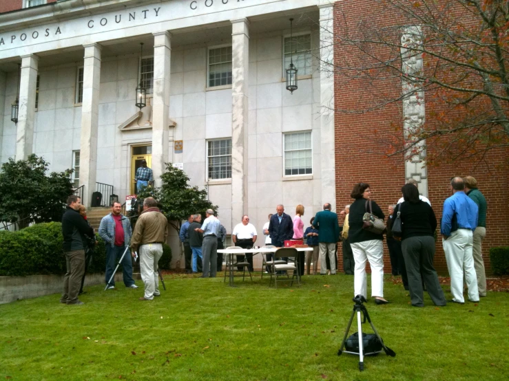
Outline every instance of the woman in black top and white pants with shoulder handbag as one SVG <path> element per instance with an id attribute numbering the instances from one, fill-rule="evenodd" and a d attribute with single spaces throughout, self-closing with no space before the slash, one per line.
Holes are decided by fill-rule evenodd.
<path id="1" fill-rule="evenodd" d="M 389 303 L 384 299 L 383 229 L 377 230 L 380 232 L 374 232 L 373 229 L 374 224 L 384 225 L 384 213 L 380 206 L 371 200 L 369 184 L 363 182 L 355 184 L 350 196 L 355 199 L 349 213 L 349 241 L 355 261 L 354 294 L 355 296 L 361 294 L 367 299 L 366 261 L 369 261 L 371 296 L 375 298 L 376 304 Z M 365 216 L 372 221 L 365 221 Z"/>

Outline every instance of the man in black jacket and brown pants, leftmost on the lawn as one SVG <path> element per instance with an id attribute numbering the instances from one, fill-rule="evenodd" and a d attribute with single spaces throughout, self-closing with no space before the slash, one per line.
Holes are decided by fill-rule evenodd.
<path id="1" fill-rule="evenodd" d="M 63 252 L 67 272 L 63 278 L 63 294 L 60 303 L 80 305 L 78 293 L 85 272 L 85 237 L 93 235 L 87 221 L 79 214 L 81 199 L 72 195 L 67 198 L 67 210 L 62 217 Z"/>

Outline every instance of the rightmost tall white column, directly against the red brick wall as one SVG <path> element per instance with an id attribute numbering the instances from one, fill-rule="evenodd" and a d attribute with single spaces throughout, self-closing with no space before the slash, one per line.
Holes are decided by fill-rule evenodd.
<path id="1" fill-rule="evenodd" d="M 333 4 L 320 8 L 320 155 L 322 202 L 336 204 L 334 135 L 334 34 Z"/>

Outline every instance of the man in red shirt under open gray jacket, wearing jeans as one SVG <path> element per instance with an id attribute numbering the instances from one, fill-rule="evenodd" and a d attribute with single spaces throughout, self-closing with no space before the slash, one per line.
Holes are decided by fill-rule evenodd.
<path id="1" fill-rule="evenodd" d="M 116 261 L 120 260 L 125 248 L 129 246 L 132 237 L 131 223 L 121 213 L 120 202 L 114 202 L 112 213 L 101 219 L 99 235 L 106 243 L 106 284 L 107 290 L 115 288 L 115 280 L 108 284 L 115 269 Z M 121 262 L 125 287 L 138 288 L 132 279 L 132 259 L 129 253 L 125 254 Z"/>

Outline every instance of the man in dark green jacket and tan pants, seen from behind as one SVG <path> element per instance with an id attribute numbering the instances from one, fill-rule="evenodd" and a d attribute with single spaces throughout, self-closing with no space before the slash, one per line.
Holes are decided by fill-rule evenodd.
<path id="1" fill-rule="evenodd" d="M 318 229 L 318 246 L 320 246 L 320 275 L 326 274 L 326 254 L 329 252 L 331 274 L 336 273 L 336 242 L 340 239 L 340 225 L 337 214 L 331 212 L 331 204 L 324 204 L 324 210 L 316 213 L 313 226 Z"/>

